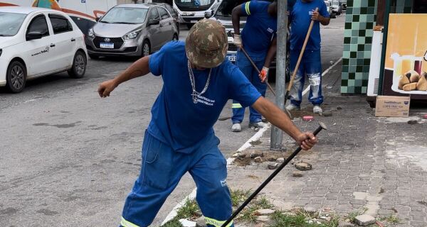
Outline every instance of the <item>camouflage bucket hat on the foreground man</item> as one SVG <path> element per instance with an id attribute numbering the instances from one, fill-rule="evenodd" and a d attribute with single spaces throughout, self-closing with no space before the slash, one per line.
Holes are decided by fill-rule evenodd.
<path id="1" fill-rule="evenodd" d="M 198 67 L 213 68 L 226 57 L 228 38 L 226 29 L 218 21 L 203 19 L 189 31 L 185 42 L 189 61 Z"/>

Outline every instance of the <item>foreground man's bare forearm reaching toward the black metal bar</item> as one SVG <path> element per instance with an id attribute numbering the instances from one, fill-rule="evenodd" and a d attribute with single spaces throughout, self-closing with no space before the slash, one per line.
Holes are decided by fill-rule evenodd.
<path id="1" fill-rule="evenodd" d="M 288 135 L 290 135 L 290 137 L 292 137 L 294 140 L 296 140 L 297 136 L 302 133 L 290 120 L 288 115 L 285 114 L 285 112 L 262 96 L 257 101 L 255 101 L 252 107 L 274 126 L 280 128 L 285 133 L 288 133 Z"/>

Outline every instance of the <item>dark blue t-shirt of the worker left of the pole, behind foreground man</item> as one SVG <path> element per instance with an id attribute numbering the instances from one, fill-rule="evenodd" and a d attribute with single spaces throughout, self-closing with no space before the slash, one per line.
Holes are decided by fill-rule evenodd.
<path id="1" fill-rule="evenodd" d="M 268 1 L 248 1 L 242 4 L 243 15 L 248 16 L 242 31 L 243 48 L 252 57 L 265 57 L 271 40 L 278 31 L 278 18 L 268 14 Z"/>

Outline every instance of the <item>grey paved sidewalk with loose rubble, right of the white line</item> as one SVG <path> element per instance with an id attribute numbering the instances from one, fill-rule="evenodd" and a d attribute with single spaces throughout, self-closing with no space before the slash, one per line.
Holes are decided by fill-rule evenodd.
<path id="1" fill-rule="evenodd" d="M 341 64 L 323 77 L 323 109 L 332 116 L 294 119 L 302 131 L 314 131 L 317 120 L 328 126 L 314 149 L 295 157 L 312 170 L 292 177 L 296 169 L 289 163 L 261 193 L 276 209 L 331 209 L 342 216 L 359 210 L 376 218 L 397 216 L 400 223 L 394 226 L 427 226 L 427 120 L 421 118 L 427 108 L 411 109 L 410 118 L 418 120 L 413 125 L 408 118 L 377 118 L 365 96 L 339 94 L 340 78 Z M 302 110 L 312 111 L 304 99 Z M 296 148 L 288 135 L 283 143 L 284 154 Z M 269 153 L 270 129 L 257 144 L 244 152 Z M 255 190 L 272 172 L 267 162 L 230 165 L 228 186 Z"/>

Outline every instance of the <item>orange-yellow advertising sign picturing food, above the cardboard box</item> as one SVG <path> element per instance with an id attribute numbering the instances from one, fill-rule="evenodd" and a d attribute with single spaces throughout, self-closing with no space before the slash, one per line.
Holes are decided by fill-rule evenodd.
<path id="1" fill-rule="evenodd" d="M 383 94 L 427 99 L 427 14 L 390 14 Z"/>

